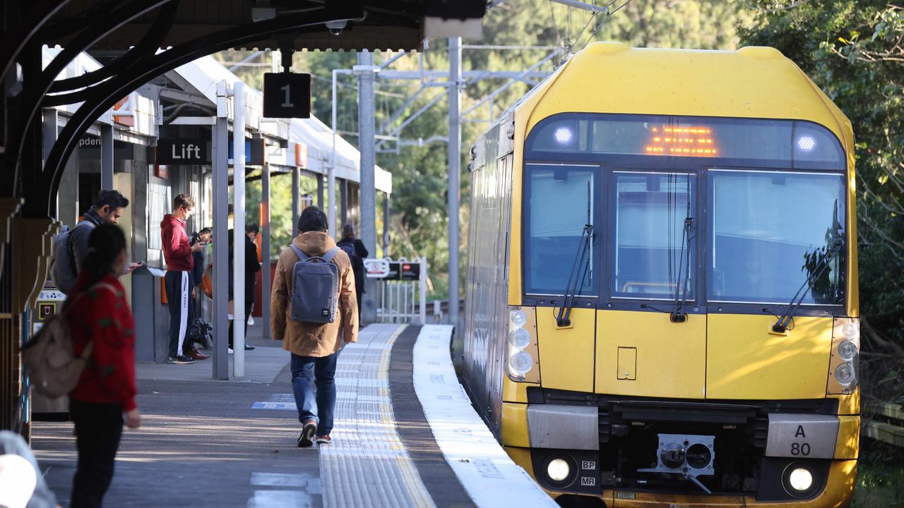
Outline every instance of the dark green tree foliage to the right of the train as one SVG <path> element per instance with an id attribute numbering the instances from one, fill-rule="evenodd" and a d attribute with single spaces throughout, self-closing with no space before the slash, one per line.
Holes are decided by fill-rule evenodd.
<path id="1" fill-rule="evenodd" d="M 795 61 L 856 136 L 860 295 L 868 396 L 899 397 L 904 367 L 904 7 L 762 0 L 741 30 Z M 892 360 L 887 356 L 892 355 Z M 874 363 L 871 361 L 876 361 Z"/>

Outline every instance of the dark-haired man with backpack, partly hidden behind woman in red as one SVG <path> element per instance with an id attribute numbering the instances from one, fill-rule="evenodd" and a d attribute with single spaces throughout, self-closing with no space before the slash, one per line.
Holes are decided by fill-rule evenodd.
<path id="1" fill-rule="evenodd" d="M 88 237 L 91 231 L 100 224 L 118 224 L 127 206 L 128 199 L 121 193 L 104 189 L 98 193 L 94 205 L 72 230 L 61 232 L 53 239 L 51 278 L 64 294 L 69 294 L 82 263 L 88 258 Z M 137 263 L 129 264 L 124 274 L 138 266 Z"/>

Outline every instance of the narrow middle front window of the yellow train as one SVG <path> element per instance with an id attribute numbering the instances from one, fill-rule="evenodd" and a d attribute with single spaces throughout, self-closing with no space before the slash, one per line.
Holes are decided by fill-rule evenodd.
<path id="1" fill-rule="evenodd" d="M 689 174 L 614 173 L 613 296 L 694 298 L 694 187 Z"/>

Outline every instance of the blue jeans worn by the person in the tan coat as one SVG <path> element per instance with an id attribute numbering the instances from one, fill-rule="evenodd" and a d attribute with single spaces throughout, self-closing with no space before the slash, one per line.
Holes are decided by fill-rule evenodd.
<path id="1" fill-rule="evenodd" d="M 338 358 L 338 351 L 322 358 L 292 353 L 292 391 L 295 392 L 298 421 L 314 419 L 317 423 L 317 436 L 329 436 L 333 430 Z M 316 397 L 312 383 L 317 387 Z"/>

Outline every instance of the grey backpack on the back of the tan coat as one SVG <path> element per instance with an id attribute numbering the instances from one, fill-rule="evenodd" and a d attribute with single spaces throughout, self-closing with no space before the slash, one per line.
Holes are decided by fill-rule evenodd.
<path id="1" fill-rule="evenodd" d="M 298 262 L 292 268 L 292 320 L 333 323 L 339 308 L 339 267 L 330 261 L 338 247 L 323 256 L 308 256 L 294 245 Z"/>

